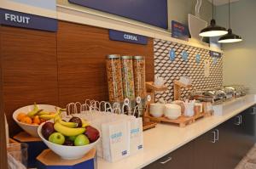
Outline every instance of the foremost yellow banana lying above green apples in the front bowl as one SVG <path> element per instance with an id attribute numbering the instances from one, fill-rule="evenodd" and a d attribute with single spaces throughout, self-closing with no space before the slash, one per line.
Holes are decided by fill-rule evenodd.
<path id="1" fill-rule="evenodd" d="M 61 132 L 64 136 L 77 136 L 85 132 L 85 128 L 70 128 L 61 125 L 60 122 L 55 123 L 55 131 Z"/>

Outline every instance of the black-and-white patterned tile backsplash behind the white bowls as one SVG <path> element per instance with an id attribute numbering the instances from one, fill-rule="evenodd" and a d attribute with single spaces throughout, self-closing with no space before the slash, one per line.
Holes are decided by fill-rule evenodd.
<path id="1" fill-rule="evenodd" d="M 175 51 L 175 59 L 171 61 L 170 51 Z M 186 51 L 188 59 L 183 59 Z M 196 61 L 196 55 L 200 54 L 200 62 Z M 210 63 L 210 75 L 205 76 L 205 62 Z M 220 87 L 223 84 L 223 57 L 213 59 L 210 51 L 204 48 L 154 39 L 154 75 L 165 78 L 168 90 L 156 93 L 155 99 L 173 100 L 173 81 L 179 80 L 180 76 L 189 76 L 192 79 L 192 88 L 182 88 L 182 98 L 189 97 L 192 89 Z"/>

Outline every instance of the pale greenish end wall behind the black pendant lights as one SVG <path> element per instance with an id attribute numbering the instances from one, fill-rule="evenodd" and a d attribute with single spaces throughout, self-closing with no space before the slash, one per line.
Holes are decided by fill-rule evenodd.
<path id="1" fill-rule="evenodd" d="M 228 27 L 228 6 L 217 9 L 218 24 Z M 244 84 L 256 93 L 256 1 L 231 3 L 231 27 L 243 42 L 224 45 L 224 84 Z"/>

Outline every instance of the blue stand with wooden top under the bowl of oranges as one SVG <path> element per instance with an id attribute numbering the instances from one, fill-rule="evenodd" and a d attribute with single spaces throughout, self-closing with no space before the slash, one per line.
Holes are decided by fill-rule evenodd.
<path id="1" fill-rule="evenodd" d="M 48 147 L 42 142 L 40 138 L 32 137 L 26 132 L 20 132 L 14 137 L 15 141 L 19 143 L 28 144 L 27 148 L 27 166 L 29 168 L 37 167 L 37 156 Z"/>

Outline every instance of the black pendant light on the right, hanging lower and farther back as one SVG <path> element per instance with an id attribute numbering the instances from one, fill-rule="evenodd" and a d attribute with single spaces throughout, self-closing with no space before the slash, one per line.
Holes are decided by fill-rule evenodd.
<path id="1" fill-rule="evenodd" d="M 228 43 L 228 42 L 241 42 L 242 39 L 240 36 L 234 34 L 230 28 L 230 0 L 229 0 L 229 30 L 228 34 L 224 35 L 223 37 L 220 37 L 218 39 L 218 42 Z"/>

